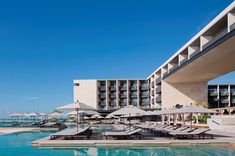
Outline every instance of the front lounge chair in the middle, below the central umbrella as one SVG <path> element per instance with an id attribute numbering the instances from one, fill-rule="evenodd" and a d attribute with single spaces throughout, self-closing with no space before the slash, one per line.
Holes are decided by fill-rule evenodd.
<path id="1" fill-rule="evenodd" d="M 133 137 L 142 139 L 142 134 L 140 133 L 142 129 L 137 128 L 137 129 L 132 129 L 132 130 L 127 130 L 127 131 L 122 131 L 122 132 L 105 132 L 103 135 L 105 136 L 106 139 L 131 139 Z"/>

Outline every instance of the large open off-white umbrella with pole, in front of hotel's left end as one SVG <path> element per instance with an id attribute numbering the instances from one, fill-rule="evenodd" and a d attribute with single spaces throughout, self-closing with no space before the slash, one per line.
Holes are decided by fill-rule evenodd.
<path id="1" fill-rule="evenodd" d="M 96 108 L 93 108 L 91 106 L 88 106 L 87 104 L 84 104 L 82 102 L 73 102 L 61 107 L 57 108 L 58 110 L 75 110 L 77 112 L 77 119 L 79 117 L 78 111 L 84 111 L 84 110 L 96 110 Z M 78 131 L 78 120 L 77 120 L 77 131 Z"/>

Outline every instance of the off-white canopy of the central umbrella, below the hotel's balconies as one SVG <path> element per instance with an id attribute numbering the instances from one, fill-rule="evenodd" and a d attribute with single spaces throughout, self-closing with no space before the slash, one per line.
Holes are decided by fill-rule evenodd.
<path id="1" fill-rule="evenodd" d="M 137 107 L 125 107 L 121 108 L 117 111 L 114 111 L 113 113 L 110 113 L 110 115 L 132 115 L 132 116 L 140 116 L 144 115 L 146 111 L 137 108 Z"/>

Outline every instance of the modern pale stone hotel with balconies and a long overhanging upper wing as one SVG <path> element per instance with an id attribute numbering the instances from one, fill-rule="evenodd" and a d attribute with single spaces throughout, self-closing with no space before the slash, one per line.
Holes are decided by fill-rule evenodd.
<path id="1" fill-rule="evenodd" d="M 100 110 L 129 105 L 172 108 L 190 103 L 208 103 L 210 108 L 234 106 L 233 85 L 208 86 L 208 81 L 235 70 L 234 35 L 235 2 L 147 78 L 74 80 L 74 101 Z M 221 94 L 226 89 L 228 95 Z"/>

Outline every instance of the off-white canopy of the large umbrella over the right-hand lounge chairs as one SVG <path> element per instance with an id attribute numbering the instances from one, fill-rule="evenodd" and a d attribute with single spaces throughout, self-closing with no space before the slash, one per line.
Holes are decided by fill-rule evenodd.
<path id="1" fill-rule="evenodd" d="M 187 113 L 217 113 L 217 112 L 200 106 L 186 106 L 175 110 L 175 114 L 187 114 Z"/>

